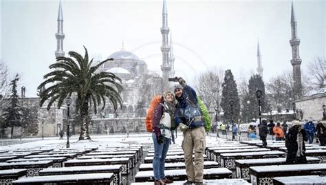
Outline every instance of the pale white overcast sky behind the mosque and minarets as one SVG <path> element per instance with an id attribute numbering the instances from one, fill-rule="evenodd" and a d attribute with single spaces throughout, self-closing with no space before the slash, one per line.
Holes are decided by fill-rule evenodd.
<path id="1" fill-rule="evenodd" d="M 292 69 L 291 1 L 166 1 L 175 70 L 192 84 L 211 67 L 231 69 L 235 78 L 256 72 L 257 40 L 263 79 Z M 59 1 L 2 0 L 0 58 L 12 74 L 22 75 L 26 96 L 55 62 Z M 64 50 L 104 60 L 122 47 L 142 58 L 150 70 L 162 64 L 162 1 L 63 0 Z M 325 1 L 294 1 L 302 70 L 325 57 Z"/>

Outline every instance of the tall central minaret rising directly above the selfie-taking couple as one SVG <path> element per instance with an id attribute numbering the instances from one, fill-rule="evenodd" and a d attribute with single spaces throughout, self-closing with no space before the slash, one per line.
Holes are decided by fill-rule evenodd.
<path id="1" fill-rule="evenodd" d="M 170 52 L 170 47 L 169 47 L 169 41 L 168 41 L 168 36 L 169 36 L 169 28 L 168 28 L 168 12 L 166 10 L 166 1 L 163 0 L 163 11 L 162 11 L 162 28 L 161 28 L 161 34 L 162 34 L 162 46 L 161 46 L 161 51 L 162 51 L 162 65 L 161 65 L 161 70 L 162 70 L 162 77 L 163 77 L 163 90 L 167 90 L 168 83 L 169 83 L 169 73 L 171 71 L 171 66 L 169 65 L 169 52 Z"/>

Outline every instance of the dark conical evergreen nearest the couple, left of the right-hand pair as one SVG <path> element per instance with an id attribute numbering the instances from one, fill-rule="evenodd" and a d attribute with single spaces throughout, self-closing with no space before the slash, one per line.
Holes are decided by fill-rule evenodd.
<path id="1" fill-rule="evenodd" d="M 224 121 L 231 123 L 239 118 L 240 114 L 240 99 L 238 96 L 237 84 L 233 78 L 230 69 L 226 70 L 222 89 L 221 108 L 224 110 Z M 231 112 L 230 101 L 233 101 L 233 113 Z"/>

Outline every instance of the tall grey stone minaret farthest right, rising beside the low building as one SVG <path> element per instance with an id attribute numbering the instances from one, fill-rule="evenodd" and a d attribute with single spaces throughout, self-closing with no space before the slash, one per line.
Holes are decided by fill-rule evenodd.
<path id="1" fill-rule="evenodd" d="M 302 84 L 301 84 L 301 58 L 299 56 L 298 45 L 300 44 L 300 39 L 298 39 L 298 32 L 296 30 L 296 17 L 294 15 L 293 1 L 291 10 L 291 40 L 290 45 L 292 47 L 292 60 L 291 64 L 293 66 L 293 80 L 294 80 L 294 99 L 298 100 L 302 96 Z"/>

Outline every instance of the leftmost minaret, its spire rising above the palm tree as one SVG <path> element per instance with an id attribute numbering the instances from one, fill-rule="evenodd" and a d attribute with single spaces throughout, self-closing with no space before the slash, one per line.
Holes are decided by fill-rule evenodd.
<path id="1" fill-rule="evenodd" d="M 58 11 L 58 32 L 56 33 L 56 57 L 65 56 L 65 52 L 63 52 L 63 39 L 65 39 L 65 34 L 63 34 L 63 10 L 61 7 L 61 1 L 59 4 Z"/>

